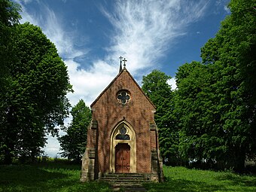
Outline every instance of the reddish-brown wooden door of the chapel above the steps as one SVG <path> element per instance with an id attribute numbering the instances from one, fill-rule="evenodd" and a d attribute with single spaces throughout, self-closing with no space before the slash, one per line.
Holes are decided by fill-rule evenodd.
<path id="1" fill-rule="evenodd" d="M 126 143 L 115 147 L 115 172 L 130 172 L 130 146 Z"/>

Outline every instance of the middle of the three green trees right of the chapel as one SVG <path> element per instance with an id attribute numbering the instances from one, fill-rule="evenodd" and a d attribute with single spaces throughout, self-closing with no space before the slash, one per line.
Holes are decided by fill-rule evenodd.
<path id="1" fill-rule="evenodd" d="M 179 149 L 184 158 L 202 160 L 212 166 L 221 160 L 225 150 L 220 111 L 216 107 L 214 66 L 200 62 L 186 63 L 176 74 L 175 114 L 181 130 Z"/>

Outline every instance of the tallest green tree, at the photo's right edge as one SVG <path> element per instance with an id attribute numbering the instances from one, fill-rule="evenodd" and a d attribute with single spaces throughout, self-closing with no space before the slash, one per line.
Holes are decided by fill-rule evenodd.
<path id="1" fill-rule="evenodd" d="M 256 7 L 253 0 L 231 0 L 231 14 L 215 38 L 202 48 L 203 63 L 213 64 L 218 81 L 221 127 L 227 154 L 225 161 L 243 169 L 246 156 L 256 152 Z"/>

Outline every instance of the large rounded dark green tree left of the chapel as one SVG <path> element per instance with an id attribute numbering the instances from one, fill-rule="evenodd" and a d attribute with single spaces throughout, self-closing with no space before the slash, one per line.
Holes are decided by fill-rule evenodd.
<path id="1" fill-rule="evenodd" d="M 67 68 L 56 47 L 38 26 L 18 25 L 14 35 L 17 62 L 9 66 L 11 81 L 1 94 L 5 101 L 1 126 L 1 153 L 32 160 L 46 143 L 45 134 L 58 132 L 67 117 L 72 91 Z"/>

